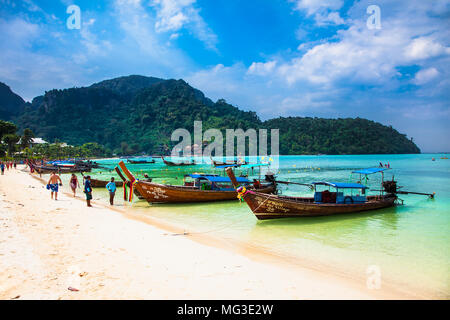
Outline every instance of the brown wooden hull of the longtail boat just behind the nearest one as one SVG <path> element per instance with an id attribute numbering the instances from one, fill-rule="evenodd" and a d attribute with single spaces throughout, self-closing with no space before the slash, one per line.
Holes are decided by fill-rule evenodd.
<path id="1" fill-rule="evenodd" d="M 200 190 L 192 187 L 170 186 L 138 181 L 134 187 L 149 203 L 188 203 L 236 200 L 237 192 Z M 262 194 L 276 191 L 275 185 L 258 189 Z"/>

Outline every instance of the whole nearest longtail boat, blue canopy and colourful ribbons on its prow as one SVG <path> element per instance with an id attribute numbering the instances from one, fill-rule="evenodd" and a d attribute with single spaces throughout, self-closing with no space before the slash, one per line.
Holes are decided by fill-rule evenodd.
<path id="1" fill-rule="evenodd" d="M 383 172 L 385 168 L 370 168 L 354 171 L 363 175 Z M 383 181 L 385 190 L 379 195 L 365 196 L 368 189 L 361 183 L 340 183 L 340 182 L 312 182 L 314 187 L 314 197 L 289 197 L 274 194 L 264 194 L 258 190 L 250 190 L 241 186 L 236 179 L 233 169 L 226 169 L 228 176 L 233 182 L 238 197 L 243 199 L 250 207 L 255 216 L 260 219 L 276 219 L 289 217 L 311 217 L 326 216 L 341 213 L 354 213 L 368 210 L 376 210 L 392 207 L 396 204 L 396 182 Z M 384 178 L 384 176 L 383 176 Z M 360 179 L 361 180 L 361 179 Z M 335 192 L 329 190 L 317 191 L 317 186 L 327 186 L 335 188 Z M 394 185 L 394 187 L 393 187 Z M 361 190 L 361 195 L 346 195 L 343 190 Z"/>

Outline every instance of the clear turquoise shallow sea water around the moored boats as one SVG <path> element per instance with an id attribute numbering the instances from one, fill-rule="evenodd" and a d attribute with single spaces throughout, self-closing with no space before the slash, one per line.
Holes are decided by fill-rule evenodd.
<path id="1" fill-rule="evenodd" d="M 374 212 L 300 219 L 258 221 L 250 209 L 237 200 L 185 205 L 148 205 L 135 199 L 130 210 L 181 226 L 188 232 L 209 234 L 233 243 L 268 250 L 311 267 L 327 267 L 365 282 L 366 269 L 376 265 L 382 285 L 428 296 L 450 295 L 450 160 L 441 154 L 282 156 L 278 180 L 311 182 L 351 180 L 354 169 L 389 162 L 392 175 L 404 190 L 436 192 L 435 199 L 400 195 L 403 206 Z M 436 161 L 431 161 L 431 158 Z M 147 172 L 154 181 L 181 184 L 183 175 L 216 172 L 210 165 L 168 168 L 156 164 L 128 165 L 138 177 Z M 102 160 L 113 166 L 118 160 Z M 93 177 L 111 176 L 98 170 Z M 377 189 L 380 175 L 370 176 L 368 185 Z M 312 195 L 302 186 L 280 186 L 283 194 Z M 119 191 L 120 194 L 121 191 Z M 370 192 L 369 192 L 370 193 Z M 94 198 L 105 198 L 96 190 Z M 121 198 L 117 197 L 118 200 Z"/>

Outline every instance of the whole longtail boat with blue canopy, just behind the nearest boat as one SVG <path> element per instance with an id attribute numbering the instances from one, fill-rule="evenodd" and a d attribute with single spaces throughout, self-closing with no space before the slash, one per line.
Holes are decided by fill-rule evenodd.
<path id="1" fill-rule="evenodd" d="M 209 202 L 236 199 L 237 192 L 227 177 L 217 175 L 191 174 L 193 182 L 185 182 L 183 186 L 159 184 L 149 181 L 137 180 L 127 169 L 123 161 L 119 166 L 133 188 L 141 194 L 149 203 L 187 203 Z M 236 178 L 239 183 L 249 190 L 257 190 L 261 194 L 276 192 L 276 184 L 273 182 L 251 182 L 246 178 Z"/>

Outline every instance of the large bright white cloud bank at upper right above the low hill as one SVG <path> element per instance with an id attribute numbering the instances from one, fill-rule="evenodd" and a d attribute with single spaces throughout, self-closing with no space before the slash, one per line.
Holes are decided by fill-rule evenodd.
<path id="1" fill-rule="evenodd" d="M 327 2 L 320 4 L 314 1 L 299 2 L 299 6 L 302 5 L 311 14 L 326 4 L 333 5 Z M 358 8 L 353 9 L 353 12 L 365 12 L 361 10 L 365 4 L 357 5 Z M 392 9 L 392 15 L 384 18 L 381 30 L 369 30 L 364 15 L 359 16 L 359 19 L 353 16 L 348 19 L 348 28 L 337 31 L 332 39 L 302 43 L 296 56 L 275 60 L 277 65 L 271 70 L 271 75 L 279 76 L 290 85 L 302 82 L 327 87 L 343 84 L 389 86 L 398 76 L 397 67 L 419 64 L 426 68 L 429 67 L 429 59 L 450 55 L 450 48 L 445 45 L 448 32 L 439 21 L 433 20 L 433 16 L 427 16 L 431 7 L 420 2 L 419 5 L 422 6 L 420 12 L 403 7 Z M 339 4 L 336 2 L 334 6 L 338 7 Z M 416 5 L 413 3 L 412 6 Z M 321 17 L 321 14 L 320 11 L 315 13 L 316 17 Z M 327 17 L 330 15 L 331 19 L 335 19 L 334 23 L 343 22 L 339 20 L 338 14 L 333 15 L 331 12 Z M 316 22 L 322 23 L 320 19 Z M 260 65 L 264 65 L 264 62 L 252 64 L 255 69 Z M 425 82 L 416 80 L 416 83 Z"/>

